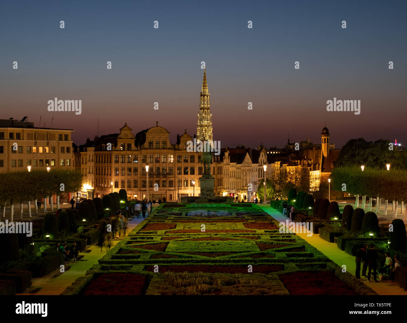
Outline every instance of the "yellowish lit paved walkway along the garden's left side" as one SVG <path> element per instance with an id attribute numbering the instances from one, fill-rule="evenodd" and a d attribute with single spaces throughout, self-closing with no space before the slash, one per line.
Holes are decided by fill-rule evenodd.
<path id="1" fill-rule="evenodd" d="M 134 218 L 128 221 L 127 232 L 134 229 L 139 223 L 142 222 L 142 218 Z M 116 245 L 121 239 L 112 240 Z M 59 269 L 53 271 L 47 276 L 33 278 L 31 280 L 32 285 L 24 293 L 18 295 L 59 295 L 70 286 L 78 277 L 85 275 L 86 271 L 94 264 L 98 264 L 98 260 L 101 259 L 107 250 L 103 251 L 96 245 L 89 246 L 84 252 L 80 252 L 79 256 L 83 255 L 83 258 L 77 261 L 66 262 L 65 273 L 60 273 Z"/>

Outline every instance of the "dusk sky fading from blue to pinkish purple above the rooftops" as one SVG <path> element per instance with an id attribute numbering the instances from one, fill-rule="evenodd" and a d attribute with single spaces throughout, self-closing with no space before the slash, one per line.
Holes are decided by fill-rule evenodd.
<path id="1" fill-rule="evenodd" d="M 53 128 L 75 130 L 76 144 L 97 134 L 97 117 L 99 135 L 158 121 L 175 143 L 184 129 L 196 133 L 205 61 L 221 146 L 282 147 L 287 133 L 319 143 L 325 122 L 337 148 L 358 137 L 407 143 L 406 9 L 405 1 L 3 0 L 0 118 L 38 126 L 42 116 L 49 127 L 54 117 Z M 55 97 L 82 100 L 82 114 L 47 111 Z M 361 100 L 361 113 L 326 111 L 334 97 Z"/>

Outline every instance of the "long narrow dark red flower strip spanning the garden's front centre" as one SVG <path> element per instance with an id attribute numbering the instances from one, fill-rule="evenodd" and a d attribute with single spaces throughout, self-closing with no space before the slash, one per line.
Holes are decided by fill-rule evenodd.
<path id="1" fill-rule="evenodd" d="M 159 266 L 158 271 L 160 273 L 165 273 L 166 271 L 173 271 L 175 273 L 183 273 L 187 271 L 188 273 L 197 273 L 199 271 L 203 273 L 241 273 L 247 274 L 248 267 L 246 265 L 236 265 L 236 266 L 210 266 L 210 265 L 170 265 L 170 266 Z M 147 266 L 147 271 L 153 271 L 154 266 Z M 273 273 L 276 271 L 284 270 L 282 265 L 254 265 L 253 273 Z"/>

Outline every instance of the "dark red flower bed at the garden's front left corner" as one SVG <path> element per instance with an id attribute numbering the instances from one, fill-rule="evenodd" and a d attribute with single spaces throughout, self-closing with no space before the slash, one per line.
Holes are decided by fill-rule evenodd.
<path id="1" fill-rule="evenodd" d="M 103 274 L 92 280 L 83 295 L 143 295 L 146 277 L 136 274 Z"/>

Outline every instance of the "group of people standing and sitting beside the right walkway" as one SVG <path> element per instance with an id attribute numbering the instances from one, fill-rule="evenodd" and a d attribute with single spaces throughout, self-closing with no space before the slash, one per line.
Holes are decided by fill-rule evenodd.
<path id="1" fill-rule="evenodd" d="M 394 282 L 395 280 L 395 273 L 399 270 L 402 265 L 398 255 L 394 256 L 394 267 L 393 267 L 393 260 L 390 256 L 389 252 L 385 253 L 386 261 L 382 268 L 379 269 L 379 275 L 381 276 L 381 280 L 383 281 L 383 276 L 389 276 L 390 281 Z M 374 244 L 370 244 L 370 249 L 368 249 L 367 244 L 363 244 L 357 253 L 356 253 L 356 278 L 361 279 L 360 277 L 360 267 L 362 263 L 362 277 L 367 277 L 368 282 L 370 282 L 370 277 L 373 270 L 373 280 L 375 283 L 378 283 L 377 280 L 377 251 L 374 250 Z M 368 271 L 368 275 L 366 275 L 366 271 Z"/>

